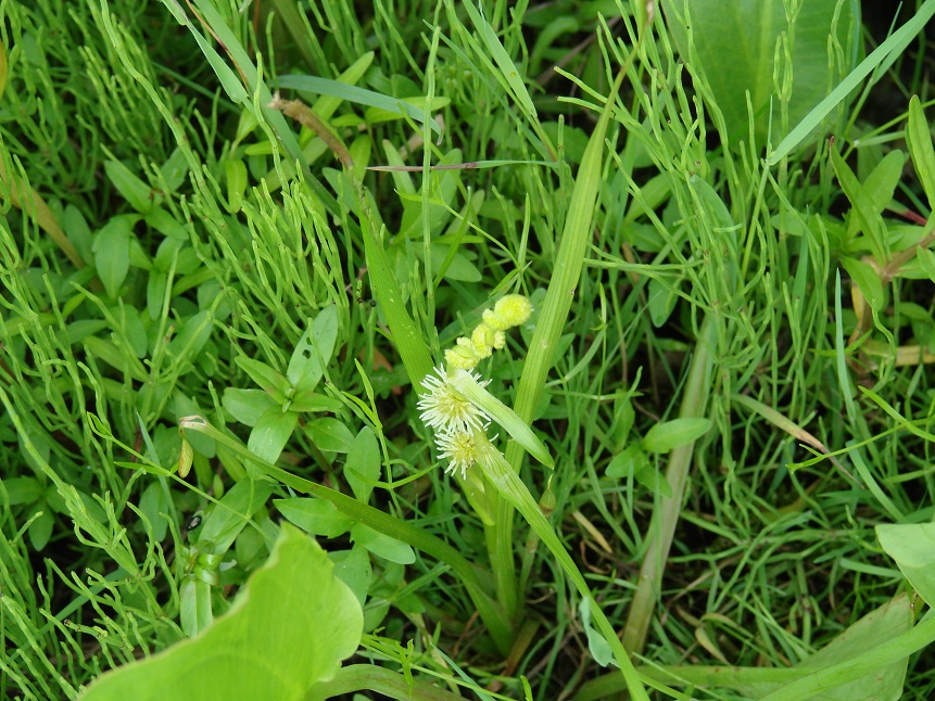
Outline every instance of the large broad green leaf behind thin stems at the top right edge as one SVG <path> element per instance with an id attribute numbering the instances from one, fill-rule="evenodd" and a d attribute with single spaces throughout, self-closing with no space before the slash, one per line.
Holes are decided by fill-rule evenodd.
<path id="1" fill-rule="evenodd" d="M 809 0 L 799 5 L 795 26 L 781 0 L 673 0 L 662 3 L 666 24 L 683 59 L 705 75 L 724 118 L 728 139 L 749 143 L 747 92 L 753 109 L 756 144 L 773 143 L 782 132 L 780 103 L 788 105 L 794 127 L 827 94 L 858 60 L 860 7 L 856 0 Z M 685 16 L 687 12 L 687 16 Z M 837 16 L 835 26 L 834 18 Z M 691 46 L 688 30 L 691 28 Z M 836 33 L 844 64 L 835 60 L 829 76 L 829 37 Z M 794 35 L 787 60 L 783 37 Z M 779 44 L 779 48 L 778 48 Z M 779 62 L 776 58 L 779 56 Z M 776 79 L 780 85 L 776 86 Z M 841 110 L 843 114 L 843 110 Z M 812 128 L 821 124 L 822 115 Z"/>

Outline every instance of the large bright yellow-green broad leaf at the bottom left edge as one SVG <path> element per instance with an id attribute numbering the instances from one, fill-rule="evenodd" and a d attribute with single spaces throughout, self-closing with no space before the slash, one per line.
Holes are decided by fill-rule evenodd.
<path id="1" fill-rule="evenodd" d="M 326 552 L 283 524 L 268 562 L 201 635 L 99 677 L 84 701 L 300 701 L 357 649 L 364 616 Z"/>

